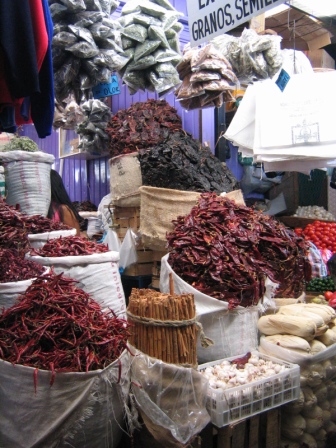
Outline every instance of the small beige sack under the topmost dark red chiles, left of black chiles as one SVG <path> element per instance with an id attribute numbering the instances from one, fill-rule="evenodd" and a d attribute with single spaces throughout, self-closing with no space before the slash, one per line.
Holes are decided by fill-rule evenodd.
<path id="1" fill-rule="evenodd" d="M 109 160 L 110 194 L 114 205 L 139 207 L 142 176 L 138 153 L 123 154 Z"/>

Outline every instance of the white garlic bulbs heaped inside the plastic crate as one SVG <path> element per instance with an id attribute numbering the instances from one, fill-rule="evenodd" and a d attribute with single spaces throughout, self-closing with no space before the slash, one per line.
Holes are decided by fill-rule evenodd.
<path id="1" fill-rule="evenodd" d="M 209 386 L 213 389 L 226 390 L 269 378 L 285 371 L 286 368 L 286 365 L 276 364 L 263 359 L 258 353 L 253 353 L 243 369 L 238 368 L 237 364 L 224 360 L 220 364 L 200 370 L 200 373 L 208 378 Z"/>

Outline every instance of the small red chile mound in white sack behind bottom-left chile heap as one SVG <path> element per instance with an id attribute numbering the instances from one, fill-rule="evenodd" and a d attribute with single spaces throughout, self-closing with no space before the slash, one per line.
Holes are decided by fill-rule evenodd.
<path id="1" fill-rule="evenodd" d="M 89 241 L 80 236 L 66 236 L 49 240 L 43 247 L 31 249 L 31 255 L 41 257 L 67 257 L 69 255 L 92 255 L 108 252 L 105 244 Z"/>

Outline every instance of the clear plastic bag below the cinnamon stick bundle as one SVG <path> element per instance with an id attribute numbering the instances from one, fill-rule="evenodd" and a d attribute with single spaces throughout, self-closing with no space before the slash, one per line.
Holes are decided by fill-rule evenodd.
<path id="1" fill-rule="evenodd" d="M 207 379 L 197 370 L 167 364 L 131 347 L 131 384 L 137 406 L 154 428 L 168 429 L 181 443 L 187 443 L 210 421 L 206 410 Z M 150 428 L 148 428 L 150 430 Z M 156 431 L 159 442 L 160 429 Z"/>

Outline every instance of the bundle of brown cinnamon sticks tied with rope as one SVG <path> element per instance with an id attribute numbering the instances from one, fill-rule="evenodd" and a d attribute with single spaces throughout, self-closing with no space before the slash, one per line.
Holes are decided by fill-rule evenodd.
<path id="1" fill-rule="evenodd" d="M 167 363 L 197 366 L 196 311 L 193 294 L 165 294 L 133 288 L 127 307 L 129 342 Z"/>

